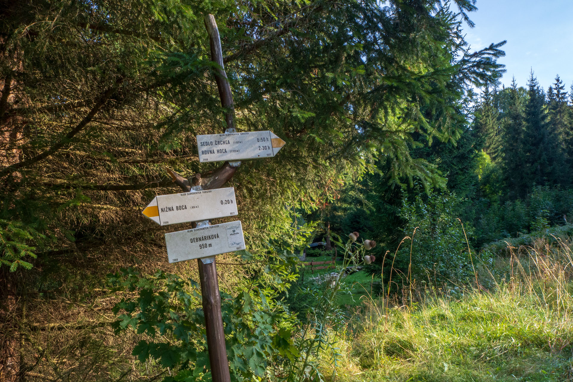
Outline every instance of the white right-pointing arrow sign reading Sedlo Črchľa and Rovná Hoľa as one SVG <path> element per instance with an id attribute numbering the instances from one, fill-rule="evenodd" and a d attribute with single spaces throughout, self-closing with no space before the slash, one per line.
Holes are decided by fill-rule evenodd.
<path id="1" fill-rule="evenodd" d="M 285 141 L 271 131 L 197 136 L 199 162 L 272 157 L 284 144 Z"/>

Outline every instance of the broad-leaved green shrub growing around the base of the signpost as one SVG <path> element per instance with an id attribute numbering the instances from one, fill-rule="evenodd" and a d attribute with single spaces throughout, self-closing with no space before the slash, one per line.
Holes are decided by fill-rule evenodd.
<path id="1" fill-rule="evenodd" d="M 245 251 L 244 257 L 249 255 Z M 286 269 L 296 257 L 286 251 L 275 255 L 276 264 L 266 267 L 266 272 L 272 272 L 275 279 L 284 278 L 277 284 L 286 288 L 289 284 L 284 281 L 290 281 L 289 274 L 276 268 Z M 143 336 L 132 353 L 140 362 L 152 359 L 174 370 L 174 376 L 164 377 L 166 382 L 210 380 L 205 317 L 197 282 L 163 271 L 143 276 L 134 269 L 109 275 L 108 282 L 112 292 L 137 293 L 115 305 L 113 313 L 119 317 L 112 326 L 116 334 L 133 330 Z M 299 357 L 291 339 L 295 319 L 276 297 L 276 288 L 265 288 L 262 283 L 254 283 L 236 297 L 221 293 L 233 381 L 264 376 L 277 358 L 294 361 Z"/>

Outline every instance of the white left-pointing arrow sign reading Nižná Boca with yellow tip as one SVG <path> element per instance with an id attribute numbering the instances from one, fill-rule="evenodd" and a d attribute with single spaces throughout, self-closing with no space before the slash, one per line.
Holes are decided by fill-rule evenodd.
<path id="1" fill-rule="evenodd" d="M 158 195 L 142 214 L 160 226 L 234 216 L 237 215 L 235 189 L 227 187 Z"/>

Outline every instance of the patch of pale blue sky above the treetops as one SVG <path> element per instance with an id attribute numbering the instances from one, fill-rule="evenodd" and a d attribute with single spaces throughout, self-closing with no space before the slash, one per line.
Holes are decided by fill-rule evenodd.
<path id="1" fill-rule="evenodd" d="M 469 17 L 476 26 L 465 27 L 472 49 L 507 40 L 502 48 L 507 72 L 501 83 L 515 76 L 525 86 L 533 69 L 545 90 L 559 74 L 566 90 L 573 82 L 573 0 L 477 0 Z M 501 87 L 501 86 L 500 86 Z"/>

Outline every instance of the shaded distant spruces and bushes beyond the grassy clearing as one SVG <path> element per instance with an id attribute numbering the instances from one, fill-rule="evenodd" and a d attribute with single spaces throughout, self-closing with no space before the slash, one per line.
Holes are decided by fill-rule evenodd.
<path id="1" fill-rule="evenodd" d="M 472 99 L 460 139 L 412 150 L 413 157 L 435 166 L 445 186 L 428 190 L 416 180 L 397 185 L 388 176 L 392 164 L 381 161 L 376 172 L 311 218 L 330 221 L 335 231 L 358 230 L 379 239 L 382 246 L 375 251 L 382 257 L 419 227 L 417 274 L 438 268 L 445 278 L 468 276 L 462 222 L 473 250 L 482 255 L 495 253 L 505 241 L 523 245 L 570 234 L 572 92 L 559 76 L 545 92 L 533 72 L 525 87 L 515 80 L 509 88 L 484 86 Z M 409 260 L 410 249 L 403 249 L 395 266 L 407 271 Z"/>

